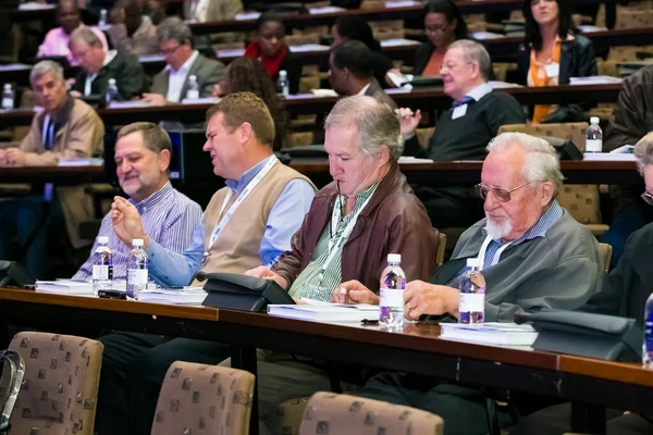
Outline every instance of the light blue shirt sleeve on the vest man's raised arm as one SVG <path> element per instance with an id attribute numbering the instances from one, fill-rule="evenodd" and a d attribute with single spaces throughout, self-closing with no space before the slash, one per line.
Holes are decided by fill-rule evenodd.
<path id="1" fill-rule="evenodd" d="M 147 247 L 148 270 L 150 277 L 164 287 L 185 286 L 190 283 L 195 272 L 199 270 L 204 254 L 204 222 L 195 227 L 190 246 L 176 253 L 165 249 L 155 240 Z"/>

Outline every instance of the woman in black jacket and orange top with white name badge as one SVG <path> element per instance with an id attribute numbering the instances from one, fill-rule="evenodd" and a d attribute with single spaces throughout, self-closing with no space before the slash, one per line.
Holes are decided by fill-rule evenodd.
<path id="1" fill-rule="evenodd" d="M 527 86 L 557 86 L 570 77 L 596 75 L 592 41 L 576 34 L 569 0 L 525 0 L 526 39 L 519 48 L 519 82 Z M 538 104 L 534 123 L 577 121 L 589 104 Z"/>

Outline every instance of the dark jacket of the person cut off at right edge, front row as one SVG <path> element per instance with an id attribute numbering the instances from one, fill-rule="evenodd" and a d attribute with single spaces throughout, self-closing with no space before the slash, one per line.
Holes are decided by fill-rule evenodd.
<path id="1" fill-rule="evenodd" d="M 624 256 L 605 277 L 601 291 L 582 311 L 633 318 L 641 327 L 644 303 L 653 290 L 653 224 L 633 233 L 626 243 Z"/>

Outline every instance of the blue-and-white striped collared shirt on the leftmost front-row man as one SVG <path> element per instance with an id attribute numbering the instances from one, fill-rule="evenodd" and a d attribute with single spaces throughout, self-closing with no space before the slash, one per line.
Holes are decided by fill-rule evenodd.
<path id="1" fill-rule="evenodd" d="M 193 232 L 201 223 L 201 207 L 173 188 L 170 182 L 149 198 L 140 202 L 130 199 L 130 202 L 140 214 L 143 229 L 150 238 L 150 245 L 157 244 L 173 252 L 181 253 L 188 248 Z M 125 279 L 132 247 L 123 244 L 113 232 L 111 213 L 102 219 L 98 236 L 109 237 L 109 247 L 113 252 L 113 278 Z M 97 241 L 90 251 L 91 256 L 79 268 L 73 279 L 90 279 L 93 277 L 93 252 L 96 248 Z M 150 279 L 161 284 L 151 273 Z"/>

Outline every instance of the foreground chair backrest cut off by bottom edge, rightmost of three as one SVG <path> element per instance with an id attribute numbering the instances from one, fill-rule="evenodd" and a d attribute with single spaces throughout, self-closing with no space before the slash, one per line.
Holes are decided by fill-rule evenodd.
<path id="1" fill-rule="evenodd" d="M 443 420 L 430 412 L 324 391 L 310 398 L 299 426 L 299 435 L 440 435 L 443 432 Z"/>

